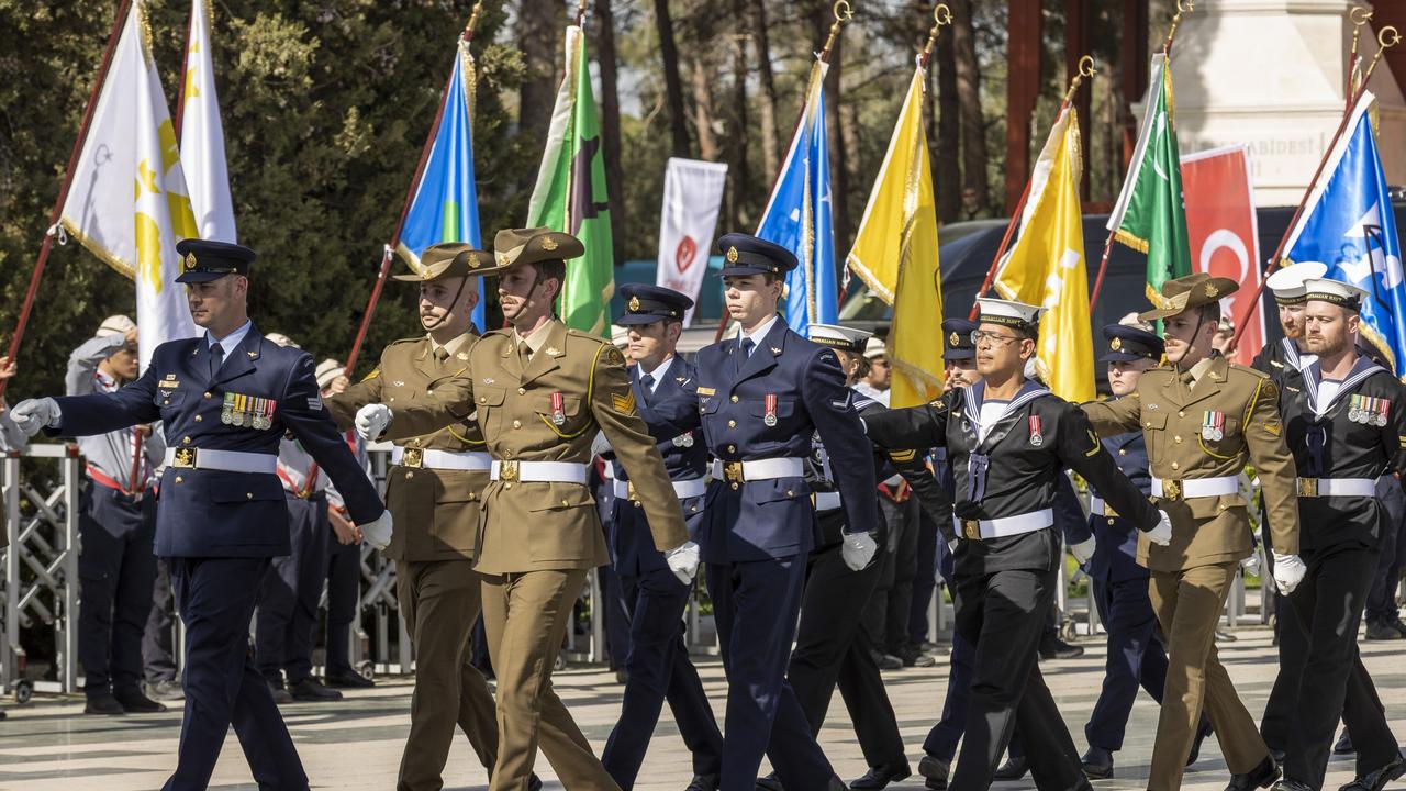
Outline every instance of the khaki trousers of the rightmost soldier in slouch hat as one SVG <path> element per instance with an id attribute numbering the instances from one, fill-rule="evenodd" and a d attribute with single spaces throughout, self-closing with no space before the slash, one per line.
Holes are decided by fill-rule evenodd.
<path id="1" fill-rule="evenodd" d="M 1232 560 L 1152 573 L 1152 608 L 1167 636 L 1167 687 L 1152 750 L 1149 791 L 1181 787 L 1202 705 L 1232 774 L 1249 773 L 1270 754 L 1230 676 L 1216 659 L 1216 624 L 1237 566 Z"/>

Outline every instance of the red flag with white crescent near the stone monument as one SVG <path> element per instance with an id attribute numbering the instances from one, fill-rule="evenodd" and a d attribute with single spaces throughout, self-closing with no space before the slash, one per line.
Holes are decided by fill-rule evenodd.
<path id="1" fill-rule="evenodd" d="M 1249 366 L 1264 348 L 1260 294 L 1260 228 L 1250 180 L 1250 151 L 1243 145 L 1181 158 L 1187 196 L 1187 239 L 1195 272 L 1229 277 L 1240 289 L 1220 300 L 1222 311 L 1246 327 L 1232 362 Z"/>

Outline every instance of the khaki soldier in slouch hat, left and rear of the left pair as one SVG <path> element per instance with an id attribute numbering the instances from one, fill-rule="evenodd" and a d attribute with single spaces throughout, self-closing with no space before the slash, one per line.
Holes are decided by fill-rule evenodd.
<path id="1" fill-rule="evenodd" d="M 467 243 L 427 248 L 419 270 L 396 280 L 419 283 L 425 335 L 395 341 L 364 381 L 326 401 L 340 428 L 367 404 L 391 408 L 468 367 L 478 341 L 475 269 L 492 256 Z M 457 723 L 485 768 L 498 760 L 498 725 L 488 683 L 468 663 L 470 632 L 481 609 L 478 498 L 488 486 L 488 453 L 472 421 L 405 438 L 391 455 L 385 500 L 398 517 L 387 557 L 395 560 L 396 597 L 415 646 L 415 694 L 405 742 L 401 791 L 437 790 Z"/>

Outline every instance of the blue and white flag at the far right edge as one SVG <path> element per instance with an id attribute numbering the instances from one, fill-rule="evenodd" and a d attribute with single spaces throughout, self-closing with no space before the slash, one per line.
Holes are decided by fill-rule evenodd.
<path id="1" fill-rule="evenodd" d="M 1396 376 L 1406 374 L 1406 284 L 1402 283 L 1400 241 L 1386 176 L 1376 152 L 1369 108 L 1362 91 L 1347 129 L 1329 153 L 1326 175 L 1289 229 L 1284 263 L 1317 260 L 1327 277 L 1367 291 L 1362 338 L 1382 350 Z"/>

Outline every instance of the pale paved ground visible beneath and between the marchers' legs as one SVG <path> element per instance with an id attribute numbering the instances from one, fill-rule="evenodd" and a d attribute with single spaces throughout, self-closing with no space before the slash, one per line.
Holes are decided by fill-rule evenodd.
<path id="1" fill-rule="evenodd" d="M 1222 657 L 1249 705 L 1257 715 L 1274 683 L 1275 663 L 1268 632 L 1241 629 L 1239 640 L 1220 643 Z M 1084 640 L 1090 650 L 1083 659 L 1046 663 L 1043 670 L 1059 698 L 1074 742 L 1083 749 L 1083 723 L 1098 695 L 1104 650 Z M 1364 643 L 1364 660 L 1398 733 L 1406 733 L 1406 670 L 1400 654 L 1406 643 Z M 703 666 L 704 681 L 714 707 L 721 711 L 724 680 L 716 662 Z M 599 750 L 619 712 L 619 685 L 613 674 L 599 670 L 572 670 L 558 674 L 557 688 L 571 707 L 576 722 Z M 898 712 L 908 754 L 917 764 L 922 738 L 932 725 L 946 685 L 946 664 L 927 670 L 903 670 L 889 674 L 889 695 Z M 385 680 L 368 692 L 350 695 L 342 704 L 299 704 L 285 709 L 298 750 L 315 788 L 394 788 L 405 733 L 409 728 L 408 681 Z M 0 788 L 13 791 L 125 791 L 159 788 L 174 766 L 180 712 L 153 716 L 87 718 L 75 701 L 38 697 L 37 704 L 15 709 L 0 722 Z M 721 716 L 721 715 L 720 715 Z M 1156 707 L 1143 697 L 1133 709 L 1128 745 L 1118 754 L 1116 778 L 1101 781 L 1099 790 L 1142 788 L 1156 732 Z M 825 752 L 842 777 L 865 771 L 859 746 L 838 702 L 821 733 Z M 548 788 L 561 788 L 546 761 L 538 761 Z M 673 723 L 661 722 L 654 749 L 641 773 L 641 791 L 676 791 L 688 784 L 690 771 L 683 745 Z M 1350 781 L 1350 760 L 1334 759 L 1329 767 L 1327 788 Z M 456 742 L 446 771 L 449 788 L 482 788 L 485 773 L 477 766 L 468 743 Z M 1195 770 L 1187 774 L 1185 787 L 1225 788 L 1225 764 L 1219 749 L 1208 743 Z M 231 736 L 215 774 L 214 787 L 254 788 L 249 768 Z M 890 788 L 921 788 L 914 780 Z M 1029 781 L 997 784 L 998 788 L 1031 788 Z"/>

